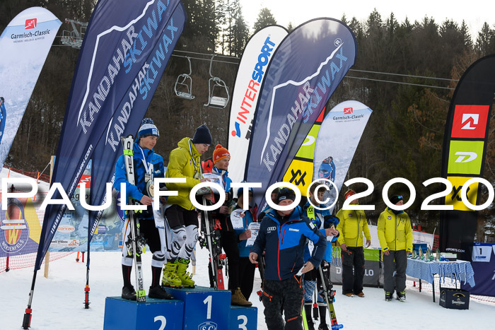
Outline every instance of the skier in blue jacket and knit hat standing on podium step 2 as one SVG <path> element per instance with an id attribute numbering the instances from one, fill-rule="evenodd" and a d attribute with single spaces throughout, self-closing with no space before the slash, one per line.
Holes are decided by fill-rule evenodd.
<path id="1" fill-rule="evenodd" d="M 145 211 L 137 213 L 139 217 L 140 234 L 146 238 L 153 257 L 151 258 L 151 286 L 148 296 L 158 299 L 172 299 L 172 295 L 165 292 L 160 285 L 163 263 L 165 261 L 165 229 L 163 218 L 156 219 L 153 217 L 153 191 L 151 183 L 154 178 L 163 177 L 165 167 L 163 158 L 153 151 L 153 147 L 158 141 L 158 129 L 149 118 L 144 118 L 137 134 L 137 140 L 133 146 L 134 162 L 134 180 L 135 184 L 127 181 L 127 172 L 125 169 L 124 155 L 121 155 L 115 165 L 115 182 L 113 187 L 120 191 L 120 184 L 124 183 L 126 187 L 126 199 L 131 197 L 136 199 L 140 204 L 148 206 Z M 160 223 L 158 223 L 160 221 Z M 124 226 L 124 244 L 122 244 L 122 276 L 124 278 L 124 287 L 122 288 L 122 298 L 127 300 L 136 300 L 136 291 L 131 284 L 131 271 L 134 261 L 133 254 L 127 251 L 126 242 L 129 240 L 131 228 L 129 219 Z"/>

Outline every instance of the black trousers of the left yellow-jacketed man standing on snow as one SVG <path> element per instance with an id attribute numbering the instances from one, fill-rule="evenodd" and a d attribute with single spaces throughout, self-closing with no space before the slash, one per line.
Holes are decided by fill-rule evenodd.
<path id="1" fill-rule="evenodd" d="M 354 272 L 353 272 L 354 269 Z M 364 249 L 363 247 L 347 247 L 342 251 L 342 293 L 363 292 Z"/>

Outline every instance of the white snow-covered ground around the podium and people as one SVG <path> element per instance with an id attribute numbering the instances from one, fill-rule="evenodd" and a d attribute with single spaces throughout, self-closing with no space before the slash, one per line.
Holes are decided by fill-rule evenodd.
<path id="1" fill-rule="evenodd" d="M 197 270 L 194 280 L 198 285 L 208 286 L 208 252 L 197 250 Z M 50 264 L 50 276 L 37 274 L 33 296 L 33 320 L 31 329 L 103 329 L 105 297 L 120 295 L 122 272 L 120 253 L 93 252 L 91 254 L 90 301 L 91 308 L 84 310 L 84 285 L 86 266 L 76 263 L 76 254 Z M 151 281 L 151 254 L 144 254 L 144 288 Z M 33 269 L 16 269 L 0 273 L 0 329 L 21 329 L 23 314 Z M 255 278 L 254 290 L 259 290 L 260 278 Z M 385 302 L 383 289 L 365 288 L 366 297 L 344 297 L 337 290 L 335 310 L 337 320 L 344 329 L 494 329 L 495 304 L 483 304 L 471 299 L 469 310 L 446 310 L 432 302 L 431 292 L 419 293 L 407 288 L 407 301 Z M 250 300 L 258 307 L 258 329 L 264 324 L 263 307 L 255 293 Z M 222 329 L 223 330 L 223 329 Z"/>

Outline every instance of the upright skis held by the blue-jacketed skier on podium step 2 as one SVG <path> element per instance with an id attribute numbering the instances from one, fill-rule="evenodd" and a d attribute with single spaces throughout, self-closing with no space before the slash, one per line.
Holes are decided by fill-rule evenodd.
<path id="1" fill-rule="evenodd" d="M 134 160 L 133 160 L 133 149 L 134 138 L 132 135 L 124 138 L 120 138 L 122 145 L 124 146 L 124 160 L 125 160 L 125 170 L 127 173 L 127 181 L 129 184 L 136 184 L 134 180 Z M 129 205 L 140 205 L 138 201 L 129 197 Z M 136 300 L 138 302 L 146 302 L 146 292 L 144 291 L 143 283 L 143 270 L 141 264 L 141 253 L 143 248 L 146 246 L 146 241 L 144 237 L 139 234 L 139 218 L 137 218 L 136 213 L 132 210 L 127 210 L 129 215 L 129 225 L 131 226 L 131 233 L 129 235 L 129 241 L 126 243 L 127 253 L 134 256 L 134 264 L 136 265 Z"/>

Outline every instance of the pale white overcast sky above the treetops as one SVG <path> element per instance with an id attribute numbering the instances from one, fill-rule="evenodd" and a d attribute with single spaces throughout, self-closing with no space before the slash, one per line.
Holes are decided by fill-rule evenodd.
<path id="1" fill-rule="evenodd" d="M 385 20 L 393 12 L 395 18 L 402 22 L 407 17 L 411 23 L 421 21 L 425 16 L 433 17 L 441 24 L 445 19 L 457 23 L 465 20 L 473 40 L 476 40 L 484 22 L 495 28 L 495 1 L 482 0 L 240 0 L 243 6 L 243 16 L 250 28 L 255 23 L 261 8 L 269 8 L 279 25 L 287 26 L 289 22 L 294 27 L 306 20 L 318 17 L 342 18 L 345 13 L 348 20 L 356 17 L 359 21 L 366 20 L 374 8 Z"/>

